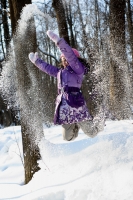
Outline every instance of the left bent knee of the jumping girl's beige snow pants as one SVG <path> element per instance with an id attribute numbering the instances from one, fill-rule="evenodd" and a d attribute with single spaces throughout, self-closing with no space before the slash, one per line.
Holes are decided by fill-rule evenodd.
<path id="1" fill-rule="evenodd" d="M 64 140 L 72 141 L 78 137 L 79 126 L 77 124 L 63 124 L 62 129 Z"/>

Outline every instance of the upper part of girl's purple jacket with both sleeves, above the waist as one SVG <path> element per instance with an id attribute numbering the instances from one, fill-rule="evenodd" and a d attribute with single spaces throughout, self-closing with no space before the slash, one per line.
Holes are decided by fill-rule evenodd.
<path id="1" fill-rule="evenodd" d="M 71 47 L 66 43 L 63 38 L 60 39 L 60 41 L 57 43 L 57 46 L 65 55 L 67 62 L 72 68 L 71 71 L 68 70 L 68 67 L 62 70 L 62 86 L 68 85 L 80 88 L 84 75 L 84 65 L 78 60 L 77 56 L 73 53 Z M 37 59 L 35 65 L 43 72 L 49 74 L 50 76 L 56 77 L 58 79 L 58 88 L 61 87 L 58 75 L 60 71 L 59 68 L 57 68 L 56 66 L 52 66 L 41 59 Z"/>

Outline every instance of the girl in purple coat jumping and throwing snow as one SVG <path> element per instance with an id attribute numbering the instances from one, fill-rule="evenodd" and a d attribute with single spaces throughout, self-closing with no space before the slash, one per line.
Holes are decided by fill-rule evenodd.
<path id="1" fill-rule="evenodd" d="M 80 90 L 85 66 L 78 59 L 79 52 L 72 49 L 63 38 L 52 31 L 47 31 L 47 35 L 59 47 L 62 61 L 62 69 L 52 66 L 38 57 L 38 53 L 30 53 L 29 59 L 40 70 L 57 78 L 58 96 L 54 114 L 54 124 L 62 125 L 63 139 L 74 140 L 78 136 L 79 128 L 90 137 L 97 135 L 99 130 L 94 123 L 86 102 Z"/>

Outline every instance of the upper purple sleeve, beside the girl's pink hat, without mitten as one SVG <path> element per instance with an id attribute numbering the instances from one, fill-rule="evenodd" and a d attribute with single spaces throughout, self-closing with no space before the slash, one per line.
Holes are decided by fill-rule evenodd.
<path id="1" fill-rule="evenodd" d="M 67 62 L 69 63 L 71 68 L 75 71 L 75 73 L 78 75 L 84 73 L 85 69 L 84 65 L 79 61 L 77 56 L 74 54 L 72 48 L 63 38 L 59 40 L 57 46 L 60 48 L 60 51 L 64 54 Z"/>

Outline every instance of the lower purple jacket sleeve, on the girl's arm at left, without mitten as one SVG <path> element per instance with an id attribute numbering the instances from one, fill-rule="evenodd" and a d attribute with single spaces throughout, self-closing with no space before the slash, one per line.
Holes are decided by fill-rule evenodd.
<path id="1" fill-rule="evenodd" d="M 57 77 L 57 73 L 59 71 L 59 69 L 55 66 L 52 66 L 46 62 L 44 62 L 43 60 L 41 60 L 40 58 L 38 58 L 35 62 L 35 65 L 43 72 L 45 72 L 46 74 L 49 74 L 50 76 L 54 76 Z"/>

